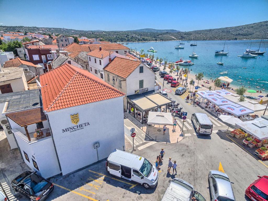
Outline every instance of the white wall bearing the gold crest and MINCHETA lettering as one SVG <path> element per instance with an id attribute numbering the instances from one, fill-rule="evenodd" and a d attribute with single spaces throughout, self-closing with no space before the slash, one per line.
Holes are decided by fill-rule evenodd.
<path id="1" fill-rule="evenodd" d="M 79 115 L 77 125 L 70 115 Z M 68 174 L 98 161 L 94 144 L 99 142 L 99 160 L 114 149 L 124 150 L 123 97 L 60 109 L 46 113 L 49 118 L 62 174 Z M 89 125 L 87 124 L 89 123 Z M 83 124 L 79 130 L 69 127 Z M 67 128 L 67 130 L 66 130 Z M 72 132 L 70 132 L 72 131 Z"/>

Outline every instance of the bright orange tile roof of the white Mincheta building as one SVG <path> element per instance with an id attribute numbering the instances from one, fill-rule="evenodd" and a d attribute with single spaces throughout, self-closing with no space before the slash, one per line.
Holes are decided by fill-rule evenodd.
<path id="1" fill-rule="evenodd" d="M 40 83 L 47 112 L 125 95 L 90 72 L 67 63 L 40 75 Z"/>

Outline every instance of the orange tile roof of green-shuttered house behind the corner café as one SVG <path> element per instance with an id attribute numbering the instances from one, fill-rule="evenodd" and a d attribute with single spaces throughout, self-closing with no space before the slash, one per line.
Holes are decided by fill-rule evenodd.
<path id="1" fill-rule="evenodd" d="M 140 64 L 140 61 L 115 57 L 104 70 L 116 74 L 121 78 L 127 78 Z"/>

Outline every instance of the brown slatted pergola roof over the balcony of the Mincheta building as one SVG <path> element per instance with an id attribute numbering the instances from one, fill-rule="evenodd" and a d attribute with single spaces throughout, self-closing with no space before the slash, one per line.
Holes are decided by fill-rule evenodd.
<path id="1" fill-rule="evenodd" d="M 6 116 L 21 127 L 47 120 L 47 117 L 43 112 L 43 108 L 34 108 L 19 112 L 13 112 L 7 114 Z"/>

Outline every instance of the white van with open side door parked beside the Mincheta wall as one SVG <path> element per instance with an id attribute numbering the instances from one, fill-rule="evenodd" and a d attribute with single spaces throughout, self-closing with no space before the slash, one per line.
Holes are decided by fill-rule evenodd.
<path id="1" fill-rule="evenodd" d="M 114 149 L 106 160 L 106 170 L 113 176 L 137 182 L 144 188 L 154 188 L 158 170 L 146 158 Z"/>

